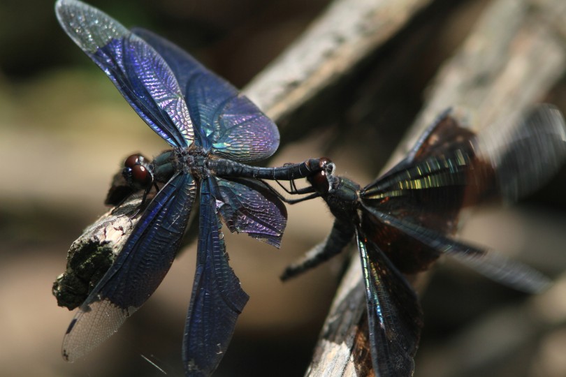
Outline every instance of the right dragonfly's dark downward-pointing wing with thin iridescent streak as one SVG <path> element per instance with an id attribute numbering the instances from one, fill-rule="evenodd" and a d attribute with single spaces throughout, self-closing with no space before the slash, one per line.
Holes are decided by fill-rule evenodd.
<path id="1" fill-rule="evenodd" d="M 416 293 L 381 250 L 356 232 L 368 304 L 372 362 L 379 377 L 412 376 L 423 314 Z"/>

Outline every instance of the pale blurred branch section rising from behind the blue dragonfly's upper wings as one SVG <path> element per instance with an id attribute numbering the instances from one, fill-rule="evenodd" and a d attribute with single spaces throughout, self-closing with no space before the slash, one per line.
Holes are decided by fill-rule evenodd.
<path id="1" fill-rule="evenodd" d="M 430 0 L 336 0 L 257 75 L 245 94 L 275 122 L 320 96 Z"/>

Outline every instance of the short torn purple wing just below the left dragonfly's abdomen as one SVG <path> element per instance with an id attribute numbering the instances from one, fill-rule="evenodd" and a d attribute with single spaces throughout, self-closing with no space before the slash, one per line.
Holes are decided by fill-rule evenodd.
<path id="1" fill-rule="evenodd" d="M 266 184 L 246 178 L 211 179 L 217 182 L 218 213 L 231 232 L 247 233 L 275 247 L 281 246 L 287 211 Z"/>

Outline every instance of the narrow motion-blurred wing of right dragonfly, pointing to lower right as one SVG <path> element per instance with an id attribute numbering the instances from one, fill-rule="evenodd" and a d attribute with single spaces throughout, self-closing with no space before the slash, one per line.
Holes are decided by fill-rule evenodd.
<path id="1" fill-rule="evenodd" d="M 500 253 L 458 242 L 442 232 L 396 219 L 395 216 L 373 207 L 364 206 L 364 208 L 376 221 L 398 229 L 403 235 L 411 237 L 428 250 L 436 251 L 438 254 L 448 254 L 463 261 L 493 281 L 528 293 L 538 293 L 550 283 L 549 279 L 537 270 L 510 260 Z M 419 248 L 422 249 L 422 246 Z"/>

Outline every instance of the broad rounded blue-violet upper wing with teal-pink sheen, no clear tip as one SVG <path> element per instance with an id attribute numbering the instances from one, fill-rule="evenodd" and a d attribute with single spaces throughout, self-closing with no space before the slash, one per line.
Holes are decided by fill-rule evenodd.
<path id="1" fill-rule="evenodd" d="M 144 29 L 133 33 L 152 45 L 177 77 L 206 150 L 240 162 L 275 153 L 277 126 L 252 101 L 168 40 Z"/>

